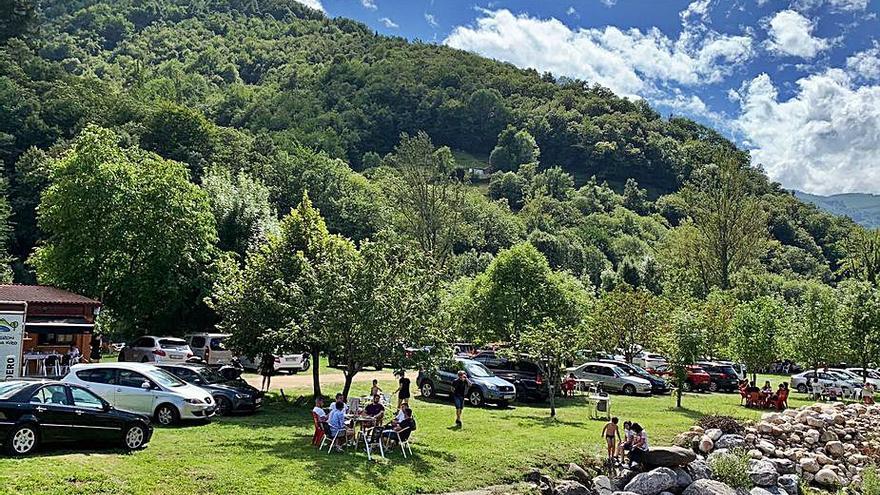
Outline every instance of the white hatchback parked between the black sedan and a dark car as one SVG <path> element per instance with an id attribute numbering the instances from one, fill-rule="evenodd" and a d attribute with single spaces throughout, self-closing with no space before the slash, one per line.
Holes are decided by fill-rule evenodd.
<path id="1" fill-rule="evenodd" d="M 62 381 L 81 385 L 113 407 L 149 416 L 163 426 L 210 418 L 216 407 L 210 392 L 151 364 L 77 364 Z"/>

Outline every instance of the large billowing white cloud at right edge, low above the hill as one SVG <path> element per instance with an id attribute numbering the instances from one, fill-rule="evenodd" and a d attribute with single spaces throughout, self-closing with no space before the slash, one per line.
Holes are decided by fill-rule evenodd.
<path id="1" fill-rule="evenodd" d="M 753 161 L 789 188 L 880 192 L 880 85 L 856 86 L 844 70 L 829 69 L 797 86 L 780 100 L 767 74 L 745 84 L 736 125 Z"/>

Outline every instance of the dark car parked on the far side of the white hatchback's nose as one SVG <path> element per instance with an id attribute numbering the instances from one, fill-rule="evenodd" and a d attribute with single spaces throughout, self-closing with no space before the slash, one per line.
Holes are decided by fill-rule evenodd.
<path id="1" fill-rule="evenodd" d="M 217 370 L 204 364 L 158 364 L 158 367 L 181 380 L 211 393 L 217 403 L 217 415 L 256 412 L 263 407 L 263 392 L 244 380 L 226 380 Z"/>

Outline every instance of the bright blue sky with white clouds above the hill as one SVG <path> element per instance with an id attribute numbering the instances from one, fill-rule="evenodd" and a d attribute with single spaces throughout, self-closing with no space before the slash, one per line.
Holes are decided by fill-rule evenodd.
<path id="1" fill-rule="evenodd" d="M 880 193 L 880 0 L 301 0 L 649 101 L 784 187 Z"/>

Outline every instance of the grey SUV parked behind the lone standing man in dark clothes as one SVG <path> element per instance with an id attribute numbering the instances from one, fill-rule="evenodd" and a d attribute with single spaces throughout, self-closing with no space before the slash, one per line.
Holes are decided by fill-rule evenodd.
<path id="1" fill-rule="evenodd" d="M 452 382 L 458 376 L 459 370 L 464 370 L 472 383 L 467 392 L 467 399 L 472 406 L 495 403 L 506 407 L 510 401 L 516 399 L 514 384 L 495 376 L 495 373 L 479 362 L 463 358 L 456 358 L 453 363 L 441 366 L 436 372 L 419 371 L 416 385 L 422 392 L 422 397 L 429 399 L 436 395 L 452 395 Z"/>

